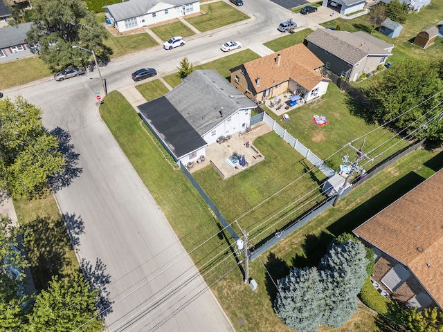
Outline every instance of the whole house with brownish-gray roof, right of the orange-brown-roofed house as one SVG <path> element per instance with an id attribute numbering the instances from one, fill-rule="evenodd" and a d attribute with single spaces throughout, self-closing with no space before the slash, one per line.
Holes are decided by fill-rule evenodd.
<path id="1" fill-rule="evenodd" d="M 349 33 L 329 29 L 315 30 L 306 37 L 305 43 L 325 63 L 325 68 L 354 82 L 383 66 L 394 48 L 363 31 Z"/>

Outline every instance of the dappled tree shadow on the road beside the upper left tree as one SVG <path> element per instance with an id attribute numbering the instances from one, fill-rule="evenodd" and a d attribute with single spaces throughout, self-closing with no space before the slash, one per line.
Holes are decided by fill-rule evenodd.
<path id="1" fill-rule="evenodd" d="M 71 133 L 57 127 L 51 130 L 51 134 L 58 138 L 60 152 L 66 159 L 66 165 L 62 167 L 62 172 L 58 172 L 48 179 L 53 192 L 58 192 L 62 188 L 68 187 L 74 178 L 78 178 L 82 174 L 83 169 L 77 167 L 80 154 L 74 151 L 74 145 L 71 144 Z"/>

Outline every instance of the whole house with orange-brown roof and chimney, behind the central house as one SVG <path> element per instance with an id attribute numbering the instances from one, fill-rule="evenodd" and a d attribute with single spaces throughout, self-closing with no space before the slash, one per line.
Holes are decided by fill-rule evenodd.
<path id="1" fill-rule="evenodd" d="M 309 102 L 324 95 L 330 80 L 318 57 L 298 44 L 230 69 L 230 83 L 246 97 L 263 101 L 290 91 Z"/>

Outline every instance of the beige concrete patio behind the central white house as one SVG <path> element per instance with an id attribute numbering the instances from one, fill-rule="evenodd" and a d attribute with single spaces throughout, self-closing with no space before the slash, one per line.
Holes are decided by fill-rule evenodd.
<path id="1" fill-rule="evenodd" d="M 251 131 L 243 133 L 241 136 L 233 135 L 227 142 L 208 145 L 205 160 L 195 161 L 188 170 L 190 173 L 194 173 L 206 166 L 212 166 L 217 169 L 223 178 L 242 172 L 242 170 L 264 160 L 265 156 L 253 145 L 253 142 L 255 138 L 270 131 L 272 129 L 267 124 L 260 123 L 251 127 Z M 248 142 L 248 147 L 246 147 L 246 142 Z M 237 165 L 232 167 L 229 165 L 226 159 L 233 156 L 233 154 L 244 155 L 246 166 Z"/>

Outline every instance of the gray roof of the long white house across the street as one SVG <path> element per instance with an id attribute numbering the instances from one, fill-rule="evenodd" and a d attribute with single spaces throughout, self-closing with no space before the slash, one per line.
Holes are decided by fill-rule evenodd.
<path id="1" fill-rule="evenodd" d="M 123 19 L 143 16 L 159 3 L 177 7 L 194 2 L 195 1 L 192 0 L 131 0 L 122 3 L 115 3 L 114 5 L 105 6 L 103 8 L 107 8 L 116 21 L 122 21 Z"/>

